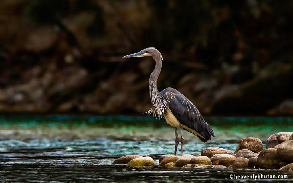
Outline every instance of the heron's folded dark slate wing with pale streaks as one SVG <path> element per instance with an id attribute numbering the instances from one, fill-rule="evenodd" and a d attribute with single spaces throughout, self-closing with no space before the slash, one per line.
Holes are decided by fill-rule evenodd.
<path id="1" fill-rule="evenodd" d="M 196 131 L 197 133 L 194 134 L 197 135 L 201 141 L 206 142 L 211 139 L 211 136 L 215 137 L 211 126 L 205 122 L 195 105 L 182 93 L 173 88 L 166 88 L 161 91 L 160 94 L 164 96 L 170 111 L 178 121 Z"/>

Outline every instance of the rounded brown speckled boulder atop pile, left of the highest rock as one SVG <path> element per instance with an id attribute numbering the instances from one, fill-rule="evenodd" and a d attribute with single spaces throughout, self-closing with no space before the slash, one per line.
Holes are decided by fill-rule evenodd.
<path id="1" fill-rule="evenodd" d="M 263 150 L 263 142 L 259 138 L 255 137 L 241 139 L 238 146 L 239 150 L 248 149 L 254 153 L 258 153 L 259 151 Z"/>

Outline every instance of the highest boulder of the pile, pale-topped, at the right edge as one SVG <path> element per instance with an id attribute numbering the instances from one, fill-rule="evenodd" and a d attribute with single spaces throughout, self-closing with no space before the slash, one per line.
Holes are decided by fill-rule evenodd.
<path id="1" fill-rule="evenodd" d="M 265 143 L 265 148 L 273 148 L 276 145 L 289 140 L 290 136 L 293 135 L 293 132 L 278 132 L 272 134 Z"/>

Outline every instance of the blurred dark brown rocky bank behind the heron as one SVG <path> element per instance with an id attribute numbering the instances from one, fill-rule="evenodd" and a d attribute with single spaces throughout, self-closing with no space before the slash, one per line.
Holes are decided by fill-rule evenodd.
<path id="1" fill-rule="evenodd" d="M 293 1 L 1 0 L 0 112 L 142 114 L 159 90 L 203 114 L 293 115 Z"/>

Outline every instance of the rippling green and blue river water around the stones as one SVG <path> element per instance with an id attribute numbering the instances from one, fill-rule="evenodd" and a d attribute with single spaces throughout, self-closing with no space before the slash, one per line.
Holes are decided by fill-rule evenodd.
<path id="1" fill-rule="evenodd" d="M 210 170 L 162 167 L 132 168 L 111 165 L 126 154 L 155 159 L 172 154 L 174 132 L 149 117 L 17 116 L 0 117 L 0 181 L 6 182 L 241 182 L 230 175 L 288 175 L 290 179 L 251 182 L 289 182 L 293 173 L 276 170 Z M 241 138 L 263 140 L 279 131 L 293 131 L 292 118 L 206 118 L 217 138 L 200 142 L 184 131 L 185 154 L 205 147 L 235 150 Z M 180 147 L 179 147 L 180 151 Z"/>

